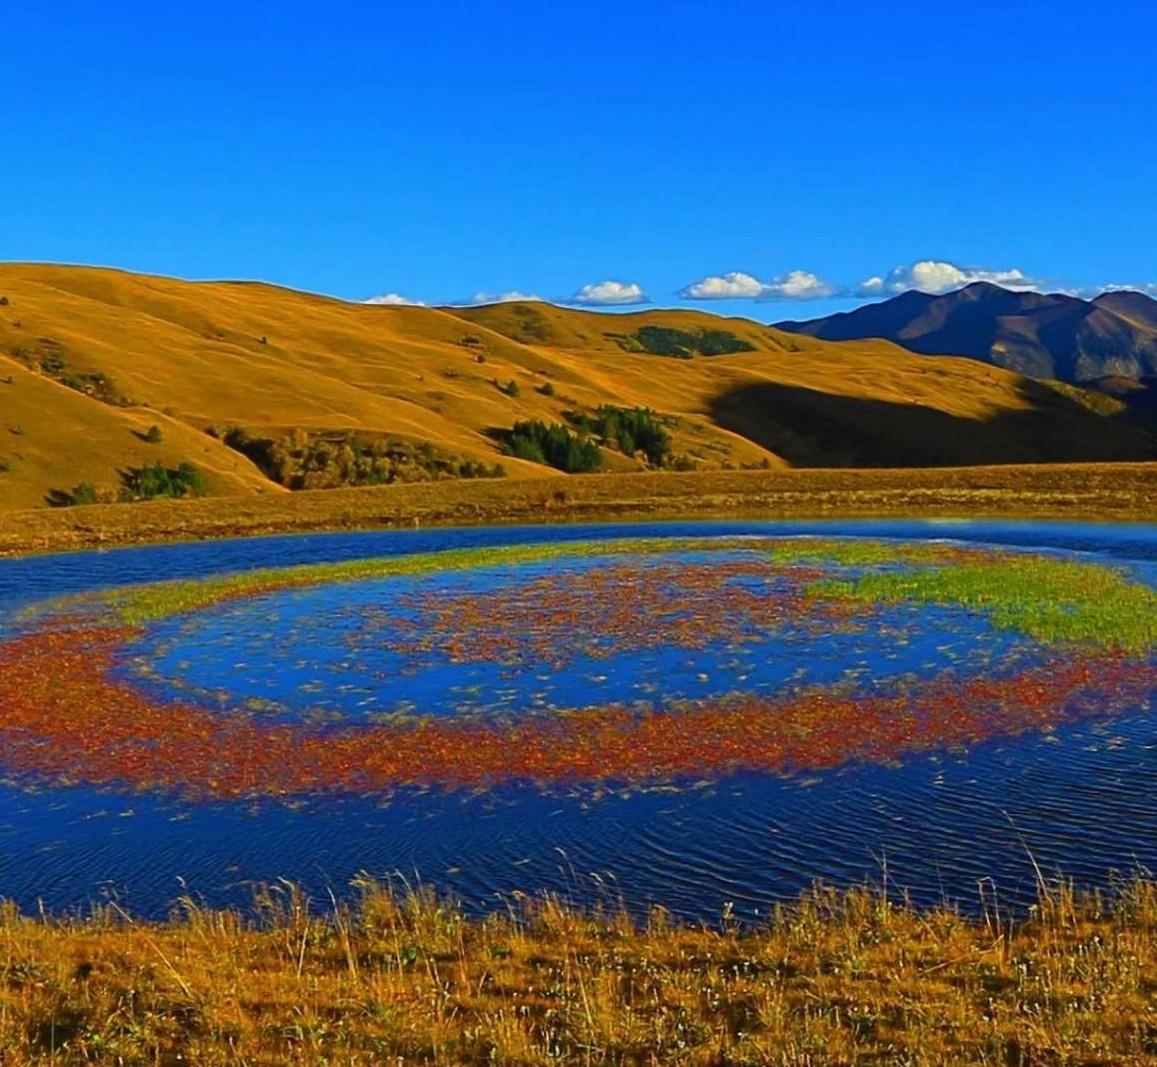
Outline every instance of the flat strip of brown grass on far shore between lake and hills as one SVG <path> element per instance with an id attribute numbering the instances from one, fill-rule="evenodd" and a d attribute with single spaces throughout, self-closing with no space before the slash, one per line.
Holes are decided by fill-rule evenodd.
<path id="1" fill-rule="evenodd" d="M 318 530 L 663 518 L 1157 521 L 1157 464 L 441 481 L 0 513 L 0 554 Z"/>

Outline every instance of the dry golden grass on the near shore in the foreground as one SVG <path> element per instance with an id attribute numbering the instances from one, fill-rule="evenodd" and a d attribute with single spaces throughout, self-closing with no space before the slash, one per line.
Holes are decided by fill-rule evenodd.
<path id="1" fill-rule="evenodd" d="M 760 929 L 277 886 L 249 919 L 0 911 L 0 1062 L 1157 1064 L 1157 885 L 1010 922 L 816 890 Z"/>

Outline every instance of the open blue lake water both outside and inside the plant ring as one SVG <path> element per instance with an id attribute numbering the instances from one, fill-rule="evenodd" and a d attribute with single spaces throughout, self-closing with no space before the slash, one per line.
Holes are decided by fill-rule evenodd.
<path id="1" fill-rule="evenodd" d="M 3 619 L 15 625 L 21 606 L 50 596 L 162 576 L 476 545 L 712 534 L 952 539 L 1082 553 L 1127 566 L 1150 583 L 1157 579 L 1157 531 L 1141 527 L 745 522 L 430 530 L 0 560 L 0 626 Z M 511 572 L 500 580 L 524 579 Z M 179 683 L 182 692 L 191 687 L 204 699 L 227 690 L 233 698 L 274 700 L 289 715 L 318 706 L 347 715 L 389 711 L 414 699 L 421 674 L 420 702 L 430 713 L 515 714 L 554 704 L 632 700 L 658 684 L 665 693 L 710 696 L 734 687 L 738 675 L 746 676 L 744 685 L 767 690 L 801 672 L 813 682 L 837 680 L 849 662 L 865 660 L 877 668 L 891 660 L 887 669 L 901 672 L 914 662 L 923 670 L 974 669 L 1029 655 L 1008 634 L 946 610 L 894 620 L 908 639 L 902 655 L 884 633 L 817 639 L 788 627 L 769 645 L 709 650 L 707 660 L 683 649 L 639 652 L 617 656 L 611 669 L 607 661 L 576 656 L 546 678 L 538 677 L 543 671 L 511 675 L 489 663 L 441 661 L 407 676 L 388 649 L 351 646 L 367 605 L 397 597 L 403 587 L 460 589 L 470 581 L 487 575 L 391 579 L 258 597 L 191 623 L 170 620 L 138 650 L 157 670 L 150 685 Z M 304 640 L 290 642 L 293 649 L 270 638 L 294 630 Z M 287 653 L 294 649 L 290 662 Z M 594 682 L 597 676 L 603 680 Z M 405 684 L 391 690 L 390 679 Z M 369 697 L 373 704 L 359 702 Z M 0 786 L 0 896 L 29 908 L 40 900 L 53 910 L 76 908 L 112 896 L 137 913 L 164 914 L 186 892 L 209 904 L 244 905 L 255 884 L 282 877 L 327 899 L 329 889 L 340 893 L 367 871 L 418 878 L 479 908 L 516 890 L 554 890 L 587 902 L 621 897 L 640 908 L 662 903 L 703 919 L 731 905 L 758 918 L 816 880 L 879 882 L 885 869 L 890 883 L 919 903 L 950 898 L 967 907 L 978 903 L 980 883 L 1002 903 L 1030 900 L 1030 851 L 1046 871 L 1082 883 L 1157 868 L 1157 727 L 1148 707 L 1049 735 L 913 757 L 902 766 L 848 765 L 794 779 L 744 773 L 653 790 L 544 793 L 518 786 L 479 794 L 415 792 L 389 803 L 352 797 L 286 805 Z"/>

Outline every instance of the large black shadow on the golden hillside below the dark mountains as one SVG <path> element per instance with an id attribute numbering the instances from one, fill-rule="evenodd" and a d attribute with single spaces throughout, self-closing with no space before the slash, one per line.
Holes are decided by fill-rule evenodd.
<path id="1" fill-rule="evenodd" d="M 712 418 L 793 466 L 974 466 L 1157 459 L 1157 441 L 1031 380 L 1031 407 L 989 419 L 774 382 L 721 395 Z"/>

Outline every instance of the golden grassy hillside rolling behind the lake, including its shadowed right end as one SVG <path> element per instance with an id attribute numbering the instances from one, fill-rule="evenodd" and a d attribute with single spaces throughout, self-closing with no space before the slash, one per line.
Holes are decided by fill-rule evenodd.
<path id="1" fill-rule="evenodd" d="M 494 432 L 599 404 L 671 417 L 676 451 L 705 469 L 1157 457 L 1108 398 L 885 341 L 833 344 L 699 311 L 363 306 L 261 284 L 28 264 L 0 264 L 0 297 L 3 508 L 46 503 L 80 481 L 115 487 L 119 472 L 155 461 L 196 464 L 211 494 L 283 492 L 205 432 L 230 425 L 427 441 L 501 459 L 511 477 L 557 477 L 501 456 Z M 753 351 L 632 351 L 647 328 L 722 331 Z M 499 388 L 510 381 L 517 396 Z M 539 391 L 546 383 L 553 396 Z M 153 425 L 161 443 L 143 440 Z M 610 451 L 606 465 L 641 466 Z"/>

